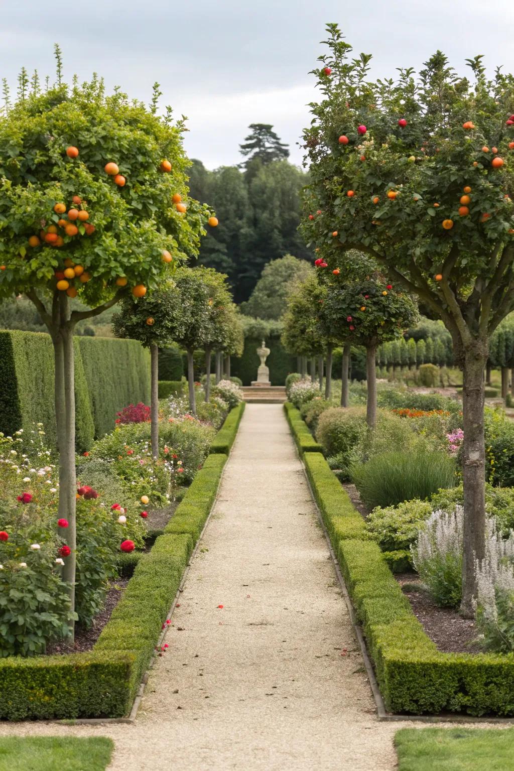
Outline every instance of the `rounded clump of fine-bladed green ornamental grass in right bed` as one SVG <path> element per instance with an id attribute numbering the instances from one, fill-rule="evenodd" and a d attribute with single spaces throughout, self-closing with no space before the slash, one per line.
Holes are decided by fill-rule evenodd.
<path id="1" fill-rule="evenodd" d="M 426 498 L 441 487 L 452 487 L 455 460 L 424 449 L 398 450 L 376 455 L 368 463 L 355 463 L 351 477 L 368 507 L 387 507 Z"/>

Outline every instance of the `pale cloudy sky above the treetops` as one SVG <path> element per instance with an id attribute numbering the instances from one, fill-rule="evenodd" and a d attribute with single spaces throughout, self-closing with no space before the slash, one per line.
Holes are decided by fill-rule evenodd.
<path id="1" fill-rule="evenodd" d="M 418 68 L 436 49 L 460 72 L 478 53 L 491 72 L 514 72 L 512 0 L 0 0 L 0 19 L 0 77 L 13 88 L 22 65 L 53 77 L 54 42 L 68 79 L 96 71 L 146 102 L 157 80 L 163 104 L 189 119 L 187 152 L 211 169 L 239 162 L 249 123 L 273 123 L 301 163 L 325 22 L 374 55 L 375 76 Z"/>

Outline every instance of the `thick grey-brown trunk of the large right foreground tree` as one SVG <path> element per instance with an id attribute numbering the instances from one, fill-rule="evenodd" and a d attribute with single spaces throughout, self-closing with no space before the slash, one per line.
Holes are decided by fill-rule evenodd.
<path id="1" fill-rule="evenodd" d="M 461 604 L 465 618 L 472 618 L 474 614 L 475 559 L 482 560 L 485 554 L 484 368 L 485 357 L 477 348 L 466 352 L 462 388 L 464 553 Z"/>

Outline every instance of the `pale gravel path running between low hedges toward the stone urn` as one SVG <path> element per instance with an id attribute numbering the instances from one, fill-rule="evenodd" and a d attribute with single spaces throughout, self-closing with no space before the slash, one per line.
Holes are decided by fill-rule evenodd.
<path id="1" fill-rule="evenodd" d="M 109 771 L 395 768 L 392 736 L 416 723 L 375 717 L 281 405 L 247 406 L 167 642 L 135 725 L 0 736 L 111 736 Z"/>

